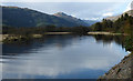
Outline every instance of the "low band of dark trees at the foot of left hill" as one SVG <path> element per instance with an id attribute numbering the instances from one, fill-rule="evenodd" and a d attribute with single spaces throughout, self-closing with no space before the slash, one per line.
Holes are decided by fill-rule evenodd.
<path id="1" fill-rule="evenodd" d="M 55 26 L 48 26 L 48 27 L 38 27 L 38 28 L 13 28 L 13 27 L 6 27 L 3 26 L 3 34 L 44 34 L 44 32 L 73 32 L 78 34 L 86 34 L 90 31 L 88 27 L 55 27 Z"/>

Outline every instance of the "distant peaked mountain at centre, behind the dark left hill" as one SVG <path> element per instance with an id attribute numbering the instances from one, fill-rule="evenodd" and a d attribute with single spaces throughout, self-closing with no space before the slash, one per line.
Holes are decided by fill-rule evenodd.
<path id="1" fill-rule="evenodd" d="M 76 23 L 79 26 L 90 26 L 89 23 L 84 22 L 83 20 L 74 18 L 72 16 L 68 16 L 64 12 L 58 12 L 58 13 L 54 13 L 53 16 L 62 18 L 62 19 L 68 20 L 68 21 L 71 21 L 71 22 Z"/>

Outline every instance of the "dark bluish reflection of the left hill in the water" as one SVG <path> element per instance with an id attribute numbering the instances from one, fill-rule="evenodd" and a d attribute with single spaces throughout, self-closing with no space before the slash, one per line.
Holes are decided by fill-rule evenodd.
<path id="1" fill-rule="evenodd" d="M 72 44 L 75 36 L 45 36 L 42 39 L 35 39 L 31 42 L 23 44 L 3 44 L 2 52 L 3 54 L 19 54 L 28 53 L 30 50 L 35 50 L 42 47 L 57 45 L 59 48 L 64 48 Z"/>

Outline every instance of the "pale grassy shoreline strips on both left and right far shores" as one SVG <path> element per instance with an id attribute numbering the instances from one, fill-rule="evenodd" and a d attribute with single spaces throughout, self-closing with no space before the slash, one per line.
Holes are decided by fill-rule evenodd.
<path id="1" fill-rule="evenodd" d="M 38 39 L 42 38 L 43 36 L 49 36 L 49 34 L 74 34 L 74 32 L 44 32 L 43 34 L 30 34 L 29 37 L 27 36 L 21 36 L 21 34 L 0 34 L 0 42 L 3 43 L 4 40 L 8 42 L 13 42 L 13 41 L 23 41 L 28 39 Z M 112 33 L 112 32 L 88 32 L 86 36 L 94 36 L 94 34 L 103 34 L 103 36 L 127 36 L 125 33 Z M 24 38 L 24 39 L 23 39 Z"/>

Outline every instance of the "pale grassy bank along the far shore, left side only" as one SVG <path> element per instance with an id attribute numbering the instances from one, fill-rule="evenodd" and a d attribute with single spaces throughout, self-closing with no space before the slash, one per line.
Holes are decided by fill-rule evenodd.
<path id="1" fill-rule="evenodd" d="M 49 34 L 72 34 L 72 32 L 44 32 L 43 34 L 0 34 L 2 43 L 25 43 L 33 39 L 40 39 Z"/>

